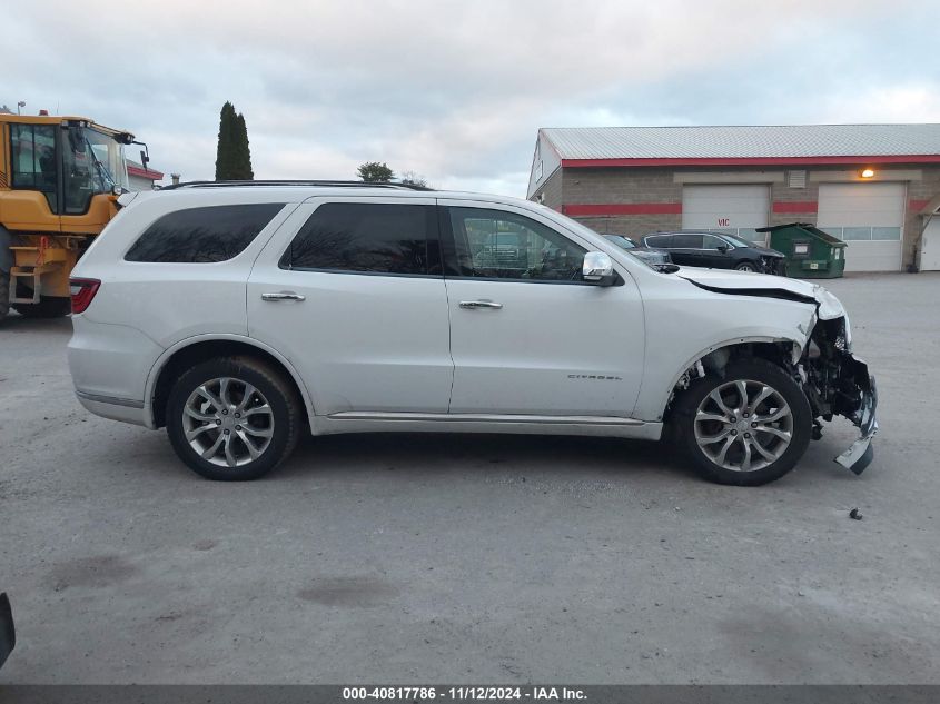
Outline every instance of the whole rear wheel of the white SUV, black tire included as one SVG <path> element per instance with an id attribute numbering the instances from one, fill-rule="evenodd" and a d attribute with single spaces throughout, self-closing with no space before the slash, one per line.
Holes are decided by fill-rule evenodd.
<path id="1" fill-rule="evenodd" d="M 297 444 L 301 401 L 269 365 L 222 357 L 192 367 L 167 401 L 167 434 L 177 456 L 207 479 L 257 479 Z"/>

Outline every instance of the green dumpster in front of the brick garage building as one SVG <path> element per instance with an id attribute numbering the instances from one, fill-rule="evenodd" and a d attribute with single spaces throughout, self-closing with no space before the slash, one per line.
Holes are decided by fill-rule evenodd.
<path id="1" fill-rule="evenodd" d="M 760 227 L 770 232 L 770 247 L 782 252 L 786 276 L 835 279 L 845 270 L 845 242 L 809 222 Z"/>

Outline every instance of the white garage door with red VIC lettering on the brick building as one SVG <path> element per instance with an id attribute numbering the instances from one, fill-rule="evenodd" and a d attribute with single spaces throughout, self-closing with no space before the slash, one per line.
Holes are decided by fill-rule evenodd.
<path id="1" fill-rule="evenodd" d="M 685 186 L 682 189 L 682 227 L 718 230 L 763 241 L 754 228 L 768 224 L 768 186 Z"/>

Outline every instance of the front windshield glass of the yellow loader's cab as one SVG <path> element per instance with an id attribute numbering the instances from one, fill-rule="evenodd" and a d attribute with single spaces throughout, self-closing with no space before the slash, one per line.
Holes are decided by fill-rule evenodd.
<path id="1" fill-rule="evenodd" d="M 87 212 L 96 194 L 128 187 L 123 145 L 88 127 L 69 127 L 65 143 L 66 214 Z"/>

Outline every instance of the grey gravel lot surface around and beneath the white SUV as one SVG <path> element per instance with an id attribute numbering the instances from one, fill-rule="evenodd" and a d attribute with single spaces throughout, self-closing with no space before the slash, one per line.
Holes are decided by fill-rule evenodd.
<path id="1" fill-rule="evenodd" d="M 205 482 L 87 414 L 68 320 L 0 323 L 0 683 L 940 683 L 940 275 L 827 284 L 875 459 L 758 489 L 660 444 L 310 439 Z M 849 510 L 859 507 L 861 522 Z"/>

